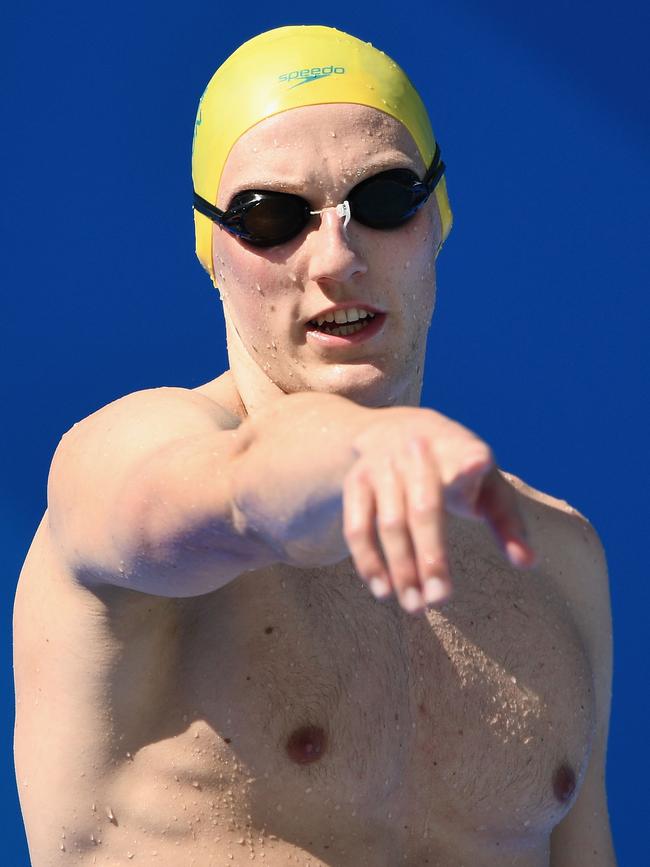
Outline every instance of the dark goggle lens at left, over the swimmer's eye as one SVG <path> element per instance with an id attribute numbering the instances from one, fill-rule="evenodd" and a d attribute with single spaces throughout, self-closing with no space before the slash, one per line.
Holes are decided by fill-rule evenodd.
<path id="1" fill-rule="evenodd" d="M 241 225 L 246 232 L 246 240 L 257 246 L 282 244 L 300 234 L 309 214 L 305 202 L 298 196 L 286 193 L 257 193 L 255 198 L 238 202 L 235 197 L 231 208 L 245 206 Z"/>

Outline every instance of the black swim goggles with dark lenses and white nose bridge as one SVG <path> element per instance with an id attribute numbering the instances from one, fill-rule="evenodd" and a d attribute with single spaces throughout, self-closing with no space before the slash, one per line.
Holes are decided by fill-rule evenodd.
<path id="1" fill-rule="evenodd" d="M 427 201 L 445 171 L 436 145 L 431 166 L 420 181 L 411 169 L 388 169 L 353 187 L 336 213 L 353 217 L 371 229 L 396 229 L 413 217 Z M 255 247 L 274 247 L 297 237 L 314 214 L 309 202 L 293 193 L 243 190 L 227 211 L 221 211 L 194 193 L 194 208 L 226 231 Z"/>

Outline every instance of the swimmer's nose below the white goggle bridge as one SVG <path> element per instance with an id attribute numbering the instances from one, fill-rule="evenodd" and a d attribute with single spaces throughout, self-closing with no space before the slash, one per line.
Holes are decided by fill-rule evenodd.
<path id="1" fill-rule="evenodd" d="M 345 283 L 368 270 L 365 259 L 350 242 L 347 222 L 349 216 L 341 206 L 320 211 L 320 226 L 310 233 L 309 238 L 311 280 Z"/>

